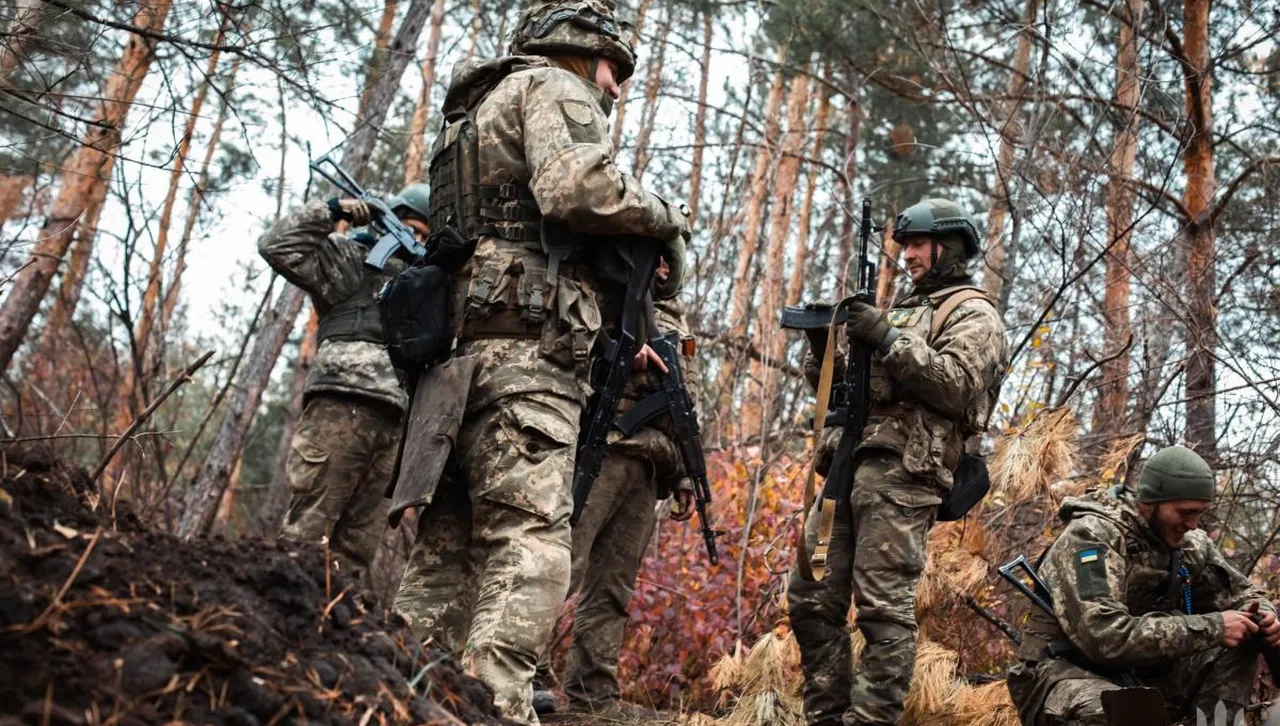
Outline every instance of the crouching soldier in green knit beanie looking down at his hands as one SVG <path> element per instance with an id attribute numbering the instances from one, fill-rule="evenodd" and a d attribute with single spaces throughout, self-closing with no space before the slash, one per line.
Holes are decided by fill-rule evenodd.
<path id="1" fill-rule="evenodd" d="M 1120 681 L 1158 689 L 1179 718 L 1213 718 L 1221 703 L 1220 722 L 1238 722 L 1280 622 L 1199 529 L 1213 488 L 1204 460 L 1175 446 L 1147 461 L 1137 497 L 1062 502 L 1066 526 L 1039 565 L 1055 617 L 1032 611 L 1009 674 L 1023 723 L 1106 726 L 1102 693 Z"/>

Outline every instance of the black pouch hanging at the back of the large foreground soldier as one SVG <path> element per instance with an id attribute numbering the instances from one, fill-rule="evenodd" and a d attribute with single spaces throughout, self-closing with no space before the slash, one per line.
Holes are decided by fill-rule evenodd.
<path id="1" fill-rule="evenodd" d="M 378 302 L 392 365 L 416 373 L 448 357 L 452 298 L 453 280 L 435 265 L 408 268 L 387 282 Z"/>

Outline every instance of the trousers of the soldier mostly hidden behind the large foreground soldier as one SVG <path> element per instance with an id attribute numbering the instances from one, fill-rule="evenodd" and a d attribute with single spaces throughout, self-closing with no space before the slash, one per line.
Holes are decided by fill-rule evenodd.
<path id="1" fill-rule="evenodd" d="M 657 481 L 644 460 L 613 451 L 573 528 L 573 616 L 564 694 L 581 709 L 618 700 L 618 650 L 640 561 L 657 521 Z"/>

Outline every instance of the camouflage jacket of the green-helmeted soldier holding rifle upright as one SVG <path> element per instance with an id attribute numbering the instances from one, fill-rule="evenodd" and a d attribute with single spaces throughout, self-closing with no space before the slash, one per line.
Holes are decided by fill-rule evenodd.
<path id="1" fill-rule="evenodd" d="M 1009 357 L 1005 324 L 991 302 L 969 300 L 931 339 L 934 302 L 915 292 L 899 296 L 887 315 L 900 334 L 872 359 L 870 410 L 859 448 L 901 453 L 908 471 L 950 488 L 964 439 L 984 432 L 991 417 Z M 819 367 L 806 353 L 805 375 L 814 387 Z M 835 375 L 845 375 L 841 353 Z M 827 433 L 826 456 L 838 439 L 838 429 Z"/>

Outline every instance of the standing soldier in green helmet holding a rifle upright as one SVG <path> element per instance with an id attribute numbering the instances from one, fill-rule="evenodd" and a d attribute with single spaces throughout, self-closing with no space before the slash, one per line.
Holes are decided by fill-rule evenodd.
<path id="1" fill-rule="evenodd" d="M 1005 370 L 1000 314 L 973 287 L 973 216 L 931 198 L 902 211 L 893 238 L 913 288 L 886 314 L 854 303 L 849 335 L 874 347 L 867 426 L 847 502 L 836 507 L 827 579 L 791 571 L 788 603 L 810 726 L 897 723 L 915 665 L 915 588 L 924 544 L 968 437 L 983 432 Z M 950 305 L 948 305 L 950 303 Z M 937 320 L 936 320 L 937 318 Z M 810 380 L 826 332 L 810 334 Z M 844 361 L 836 361 L 838 369 Z M 829 440 L 829 439 L 828 439 Z M 820 502 L 805 531 L 818 533 Z M 847 612 L 867 639 L 850 682 Z"/>

